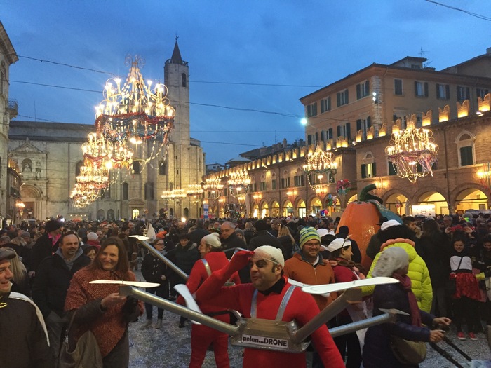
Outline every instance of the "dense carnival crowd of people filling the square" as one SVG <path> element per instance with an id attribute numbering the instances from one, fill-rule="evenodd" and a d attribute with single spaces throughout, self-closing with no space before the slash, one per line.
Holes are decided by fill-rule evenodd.
<path id="1" fill-rule="evenodd" d="M 145 280 L 159 284 L 147 292 L 185 304 L 174 289 L 185 283 L 202 312 L 223 322 L 234 322 L 229 315 L 234 309 L 246 318 L 280 318 L 304 325 L 337 298 L 336 293 L 304 294 L 292 288 L 289 279 L 321 285 L 387 275 L 400 281 L 363 287 L 363 300 L 349 305 L 311 336 L 307 354 L 245 348 L 244 367 L 271 362 L 276 365 L 267 366 L 284 362 L 288 367 L 361 367 L 362 363 L 394 367 L 397 357 L 391 353 L 391 334 L 438 342 L 443 339 L 441 329 L 447 329 L 452 318 L 458 339 L 476 340 L 483 322 L 491 325 L 489 214 L 382 219 L 366 252 L 348 226 L 338 224 L 339 218 L 309 216 L 187 222 L 50 219 L 6 226 L 0 231 L 0 319 L 14 301 L 19 303 L 11 295 L 19 293 L 34 301 L 22 308 L 29 318 L 34 318 L 33 308 L 37 313 L 37 322 L 29 327 L 36 329 L 32 336 L 42 336 L 46 327 L 50 354 L 43 349 L 47 343 L 29 350 L 32 356 L 24 358 L 31 363 L 25 367 L 56 367 L 70 320 L 78 327 L 71 329 L 74 339 L 87 330 L 94 334 L 104 367 L 127 367 L 128 323 L 145 312 L 140 329 L 163 328 L 163 310 L 157 309 L 154 323 L 152 305 L 119 296 L 115 285 L 89 282 L 136 280 L 133 271 L 140 268 Z M 155 229 L 154 248 L 189 275 L 187 280 L 131 237 L 147 235 L 149 225 Z M 370 269 L 361 266 L 362 257 L 370 257 Z M 379 315 L 381 308 L 397 308 L 408 316 L 399 317 L 395 324 L 331 338 L 329 328 Z M 176 318 L 180 328 L 186 322 L 184 317 Z M 189 367 L 201 367 L 210 346 L 217 367 L 229 367 L 227 334 L 203 325 L 191 327 Z M 0 351 L 1 367 L 16 367 L 5 353 Z"/>

